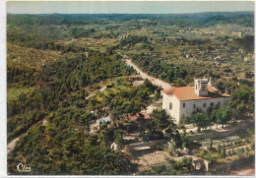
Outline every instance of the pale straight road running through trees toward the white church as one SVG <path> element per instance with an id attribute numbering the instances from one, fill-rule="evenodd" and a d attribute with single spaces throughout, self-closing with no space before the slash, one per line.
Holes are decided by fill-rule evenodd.
<path id="1" fill-rule="evenodd" d="M 132 60 L 130 59 L 127 59 L 125 60 L 125 63 L 128 65 L 128 66 L 131 66 L 133 67 L 137 73 L 139 73 L 143 79 L 148 79 L 152 82 L 152 84 L 156 85 L 156 86 L 159 86 L 161 87 L 162 89 L 170 89 L 171 86 L 168 84 L 168 83 L 165 83 L 163 81 L 161 81 L 160 79 L 157 79 L 155 77 L 152 77 L 152 76 L 149 76 L 147 73 L 143 72 L 138 66 L 136 66 Z"/>

